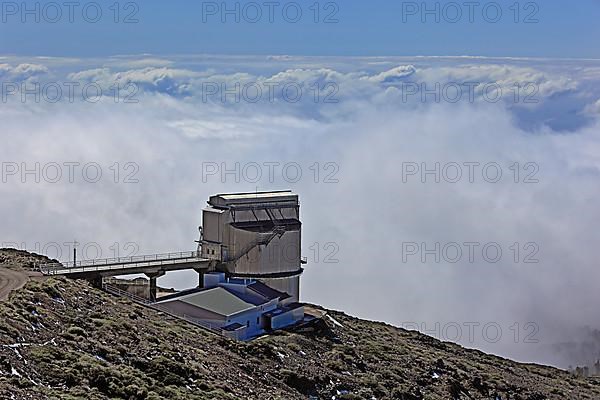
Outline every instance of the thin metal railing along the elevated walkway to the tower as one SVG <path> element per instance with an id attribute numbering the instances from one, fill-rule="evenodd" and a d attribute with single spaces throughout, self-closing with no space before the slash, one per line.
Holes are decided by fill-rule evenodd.
<path id="1" fill-rule="evenodd" d="M 60 275 L 65 273 L 82 273 L 94 271 L 106 271 L 110 269 L 126 269 L 139 264 L 152 264 L 152 266 L 173 264 L 178 260 L 200 259 L 198 251 L 186 251 L 179 253 L 151 254 L 143 256 L 105 258 L 100 260 L 72 261 L 62 264 L 39 264 L 36 269 L 44 275 Z M 114 267 L 114 268 L 112 268 Z"/>

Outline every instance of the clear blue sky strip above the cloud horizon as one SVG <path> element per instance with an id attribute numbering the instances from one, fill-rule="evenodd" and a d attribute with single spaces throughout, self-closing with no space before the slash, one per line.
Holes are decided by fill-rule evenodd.
<path id="1" fill-rule="evenodd" d="M 35 1 L 26 1 L 35 10 Z M 188 0 L 121 1 L 118 16 L 114 1 L 99 1 L 102 17 L 86 22 L 82 1 L 74 8 L 40 9 L 24 14 L 21 2 L 3 2 L 0 23 L 0 49 L 3 54 L 51 56 L 106 56 L 116 54 L 291 54 L 291 55 L 485 55 L 600 58 L 600 1 L 566 2 L 473 2 L 473 22 L 466 2 L 401 2 L 389 0 L 337 2 L 281 1 L 269 7 L 258 4 L 262 16 L 255 18 L 252 2 L 238 3 L 239 11 L 221 20 L 226 4 L 235 10 L 236 2 Z M 62 4 L 62 2 L 58 2 Z M 424 14 L 425 9 L 438 12 Z M 8 5 L 7 5 L 8 4 Z M 17 9 L 11 8 L 16 5 Z M 314 5 L 319 14 L 315 14 Z M 423 5 L 425 4 L 425 5 Z M 458 4 L 462 16 L 457 17 Z M 296 5 L 302 17 L 293 21 Z M 288 7 L 284 12 L 284 7 Z M 498 22 L 496 10 L 502 16 Z M 518 14 L 516 10 L 519 10 Z M 95 9 L 86 8 L 93 20 Z M 485 10 L 485 11 L 484 11 Z M 236 15 L 237 14 L 237 15 Z M 439 23 L 435 21 L 439 18 Z M 124 23 L 130 16 L 134 23 Z M 236 16 L 239 22 L 235 21 Z M 26 22 L 22 22 L 22 18 Z M 115 23 L 115 17 L 117 23 Z M 327 18 L 329 17 L 329 18 Z M 426 21 L 423 23 L 422 18 Z M 315 23 L 315 18 L 318 21 Z M 325 23 L 328 19 L 332 23 Z M 337 21 L 337 22 L 335 22 Z M 518 21 L 518 22 L 515 22 Z M 536 22 L 537 21 L 537 22 Z"/>

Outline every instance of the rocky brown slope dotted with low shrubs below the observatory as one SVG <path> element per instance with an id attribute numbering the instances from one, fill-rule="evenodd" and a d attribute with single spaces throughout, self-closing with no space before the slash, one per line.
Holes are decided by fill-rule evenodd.
<path id="1" fill-rule="evenodd" d="M 0 250 L 0 268 L 36 257 Z M 30 280 L 0 302 L 0 399 L 600 399 L 600 381 L 340 312 L 250 343 L 84 281 Z"/>

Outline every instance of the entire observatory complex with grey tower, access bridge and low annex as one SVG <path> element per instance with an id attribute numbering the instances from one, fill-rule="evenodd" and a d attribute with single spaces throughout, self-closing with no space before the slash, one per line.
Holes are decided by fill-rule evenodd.
<path id="1" fill-rule="evenodd" d="M 298 195 L 291 191 L 218 194 L 202 211 L 197 251 L 38 268 L 45 275 L 88 279 L 219 334 L 250 340 L 314 318 L 299 303 L 306 263 L 300 253 L 301 227 Z M 157 298 L 157 278 L 186 269 L 198 272 L 198 287 Z M 148 300 L 131 295 L 131 285 L 123 290 L 116 287 L 118 280 L 107 279 L 139 273 L 150 278 Z"/>

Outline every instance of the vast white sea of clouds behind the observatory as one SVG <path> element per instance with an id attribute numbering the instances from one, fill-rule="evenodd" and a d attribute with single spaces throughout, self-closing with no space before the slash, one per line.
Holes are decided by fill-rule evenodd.
<path id="1" fill-rule="evenodd" d="M 4 57 L 0 80 L 0 244 L 193 250 L 208 196 L 292 189 L 303 301 L 520 361 L 600 357 L 600 61 Z"/>

